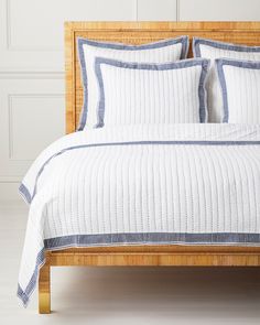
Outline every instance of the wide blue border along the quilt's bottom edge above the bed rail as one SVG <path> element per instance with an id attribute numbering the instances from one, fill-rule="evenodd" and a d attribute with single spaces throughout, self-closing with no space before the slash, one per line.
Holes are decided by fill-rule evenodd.
<path id="1" fill-rule="evenodd" d="M 123 246 L 123 245 L 260 245 L 260 234 L 243 232 L 126 232 L 102 235 L 73 235 L 44 240 L 36 259 L 32 278 L 23 291 L 18 284 L 18 296 L 26 306 L 32 292 L 36 286 L 39 270 L 44 264 L 45 250 L 58 250 L 69 247 L 97 247 L 97 246 Z"/>

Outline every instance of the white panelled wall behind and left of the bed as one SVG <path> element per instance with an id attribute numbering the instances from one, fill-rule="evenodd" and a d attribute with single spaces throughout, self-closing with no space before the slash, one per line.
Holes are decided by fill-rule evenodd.
<path id="1" fill-rule="evenodd" d="M 260 0 L 0 0 L 0 202 L 64 133 L 66 20 L 260 20 Z"/>

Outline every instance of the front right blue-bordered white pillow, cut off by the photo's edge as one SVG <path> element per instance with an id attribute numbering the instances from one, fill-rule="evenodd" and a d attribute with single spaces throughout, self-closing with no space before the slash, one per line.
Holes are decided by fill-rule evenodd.
<path id="1" fill-rule="evenodd" d="M 260 61 L 216 59 L 224 122 L 260 123 Z"/>

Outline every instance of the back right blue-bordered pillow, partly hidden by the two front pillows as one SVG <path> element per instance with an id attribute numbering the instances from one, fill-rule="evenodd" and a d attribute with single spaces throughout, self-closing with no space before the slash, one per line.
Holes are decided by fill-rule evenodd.
<path id="1" fill-rule="evenodd" d="M 260 46 L 235 45 L 194 37 L 193 54 L 195 57 L 206 57 L 212 59 L 206 82 L 208 121 L 215 123 L 223 122 L 223 98 L 214 61 L 221 57 L 260 61 Z"/>

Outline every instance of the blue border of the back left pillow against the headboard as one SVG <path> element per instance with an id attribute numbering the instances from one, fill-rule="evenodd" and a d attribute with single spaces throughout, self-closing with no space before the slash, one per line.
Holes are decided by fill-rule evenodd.
<path id="1" fill-rule="evenodd" d="M 122 43 L 106 43 L 106 42 L 97 42 L 91 41 L 88 39 L 77 39 L 77 46 L 78 46 L 78 59 L 82 67 L 82 79 L 83 79 L 83 86 L 84 86 L 84 104 L 83 109 L 79 118 L 79 126 L 78 131 L 82 131 L 86 124 L 87 121 L 87 111 L 88 111 L 88 85 L 87 85 L 87 71 L 86 71 L 86 62 L 84 56 L 84 48 L 83 46 L 85 44 L 96 46 L 96 47 L 102 47 L 102 48 L 111 48 L 111 50 L 123 50 L 123 51 L 140 51 L 140 50 L 153 50 L 153 48 L 161 48 L 165 46 L 171 46 L 174 44 L 182 43 L 182 52 L 180 59 L 186 58 L 188 53 L 188 45 L 189 40 L 188 36 L 180 36 L 177 39 L 169 39 L 169 40 L 162 40 L 154 43 L 149 44 L 142 44 L 142 45 L 127 45 Z"/>

